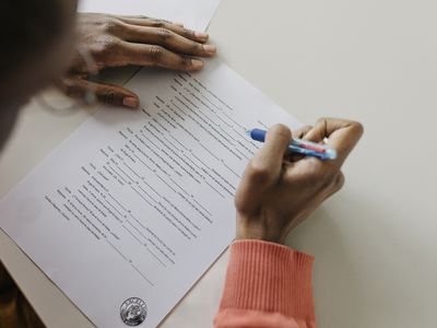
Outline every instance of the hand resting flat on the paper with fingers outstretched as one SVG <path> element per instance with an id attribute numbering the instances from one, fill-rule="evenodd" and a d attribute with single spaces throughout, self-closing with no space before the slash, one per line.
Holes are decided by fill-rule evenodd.
<path id="1" fill-rule="evenodd" d="M 94 59 L 93 72 L 125 66 L 160 67 L 196 71 L 203 67 L 197 57 L 211 57 L 215 47 L 208 45 L 208 34 L 184 28 L 163 20 L 144 16 L 78 14 L 78 48 Z M 101 102 L 137 108 L 138 96 L 129 90 L 87 81 L 90 68 L 78 52 L 69 73 L 58 85 L 69 96 L 81 98 L 93 90 Z"/>

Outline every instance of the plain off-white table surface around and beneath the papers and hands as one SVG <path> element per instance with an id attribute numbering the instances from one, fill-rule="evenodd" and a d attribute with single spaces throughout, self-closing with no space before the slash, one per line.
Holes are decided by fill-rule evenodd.
<path id="1" fill-rule="evenodd" d="M 224 0 L 220 56 L 304 122 L 359 120 L 346 185 L 290 245 L 316 256 L 322 328 L 436 327 L 437 2 Z M 0 160 L 0 196 L 87 118 L 31 104 Z M 49 327 L 91 323 L 0 232 L 0 257 Z M 210 327 L 226 255 L 163 327 Z"/>

